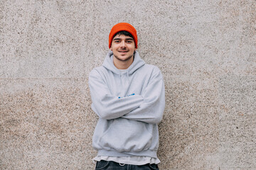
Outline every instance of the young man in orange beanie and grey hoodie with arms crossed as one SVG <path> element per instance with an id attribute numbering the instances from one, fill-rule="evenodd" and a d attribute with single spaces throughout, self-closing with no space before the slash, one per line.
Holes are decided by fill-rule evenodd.
<path id="1" fill-rule="evenodd" d="M 113 26 L 101 67 L 92 69 L 92 110 L 99 116 L 92 145 L 96 169 L 158 169 L 157 123 L 164 113 L 164 80 L 158 67 L 137 52 L 137 31 Z"/>

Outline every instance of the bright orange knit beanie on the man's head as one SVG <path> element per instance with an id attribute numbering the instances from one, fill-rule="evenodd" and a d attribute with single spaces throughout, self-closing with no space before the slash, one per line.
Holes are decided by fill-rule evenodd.
<path id="1" fill-rule="evenodd" d="M 132 34 L 132 37 L 134 38 L 135 42 L 135 47 L 137 48 L 137 31 L 135 28 L 129 24 L 129 23 L 117 23 L 117 25 L 114 25 L 110 31 L 110 36 L 109 36 L 109 47 L 111 47 L 112 40 L 114 38 L 114 35 L 118 33 L 121 30 L 126 30 L 127 32 Z"/>

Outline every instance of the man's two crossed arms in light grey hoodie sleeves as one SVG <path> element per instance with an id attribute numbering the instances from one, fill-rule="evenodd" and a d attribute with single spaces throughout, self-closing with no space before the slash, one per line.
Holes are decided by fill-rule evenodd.
<path id="1" fill-rule="evenodd" d="M 118 98 L 110 94 L 107 84 L 97 69 L 89 76 L 92 110 L 103 119 L 127 118 L 145 123 L 159 123 L 165 106 L 164 80 L 155 67 L 141 95 Z"/>

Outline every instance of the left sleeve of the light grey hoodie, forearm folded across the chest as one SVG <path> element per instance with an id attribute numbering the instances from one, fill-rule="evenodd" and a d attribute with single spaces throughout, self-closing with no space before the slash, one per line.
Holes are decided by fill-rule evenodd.
<path id="1" fill-rule="evenodd" d="M 110 94 L 107 84 L 96 69 L 90 72 L 89 87 L 92 98 L 92 110 L 103 119 L 120 118 L 138 108 L 143 102 L 140 95 L 118 98 Z"/>

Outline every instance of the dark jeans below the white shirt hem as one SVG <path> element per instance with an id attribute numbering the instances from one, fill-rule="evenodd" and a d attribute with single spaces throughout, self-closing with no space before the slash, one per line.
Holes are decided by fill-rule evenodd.
<path id="1" fill-rule="evenodd" d="M 157 164 L 131 165 L 101 160 L 97 162 L 95 170 L 159 170 L 159 168 Z"/>

